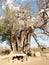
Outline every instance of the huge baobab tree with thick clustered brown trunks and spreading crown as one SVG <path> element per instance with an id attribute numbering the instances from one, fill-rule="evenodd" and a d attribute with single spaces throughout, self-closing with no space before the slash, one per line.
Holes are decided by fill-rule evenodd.
<path id="1" fill-rule="evenodd" d="M 41 0 L 42 1 L 42 0 Z M 13 4 L 12 4 L 13 5 Z M 40 2 L 41 5 L 41 2 Z M 16 6 L 16 5 L 15 5 Z M 14 6 L 14 7 L 15 7 Z M 17 6 L 16 6 L 17 7 Z M 42 6 L 39 8 L 41 9 Z M 11 42 L 11 46 L 13 48 L 13 51 L 16 52 L 21 47 L 25 48 L 27 50 L 28 41 L 30 40 L 31 34 L 33 34 L 34 39 L 36 40 L 37 44 L 39 45 L 36 34 L 34 33 L 34 30 L 36 28 L 40 28 L 44 30 L 44 33 L 49 35 L 49 32 L 47 31 L 46 25 L 48 23 L 48 16 L 45 12 L 46 9 L 44 9 L 44 12 L 39 11 L 39 14 L 37 14 L 34 19 L 31 14 L 32 8 L 28 5 L 20 5 L 19 10 L 12 10 L 9 8 L 8 4 L 5 5 L 5 17 L 4 17 L 4 31 L 8 31 L 7 33 L 9 36 L 9 40 Z M 46 18 L 45 18 L 46 15 Z M 46 20 L 45 20 L 46 19 Z M 6 23 L 6 25 L 5 25 Z M 20 24 L 21 23 L 21 24 Z M 8 26 L 7 26 L 8 25 Z M 8 29 L 7 29 L 8 27 Z M 20 36 L 18 31 L 19 31 Z M 12 33 L 14 32 L 14 33 Z M 22 44 L 21 44 L 22 43 Z M 24 45 L 23 45 L 24 44 Z M 26 45 L 27 46 L 26 46 Z M 22 46 L 21 46 L 22 45 Z M 16 48 L 17 46 L 17 48 Z M 40 45 L 39 45 L 40 46 Z"/>

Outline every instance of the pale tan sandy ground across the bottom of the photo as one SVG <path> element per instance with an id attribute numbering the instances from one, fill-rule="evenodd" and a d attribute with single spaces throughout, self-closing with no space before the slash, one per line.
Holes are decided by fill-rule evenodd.
<path id="1" fill-rule="evenodd" d="M 0 65 L 49 65 L 49 55 L 39 57 L 29 57 L 28 61 L 20 60 L 8 61 L 8 55 L 0 56 Z"/>

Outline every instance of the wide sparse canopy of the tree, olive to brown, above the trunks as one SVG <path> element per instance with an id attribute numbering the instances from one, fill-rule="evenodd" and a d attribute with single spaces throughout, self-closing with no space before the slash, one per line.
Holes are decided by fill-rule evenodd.
<path id="1" fill-rule="evenodd" d="M 48 0 L 37 0 L 39 11 L 36 15 L 33 15 L 33 7 L 28 3 L 19 6 L 15 3 L 10 4 L 11 7 L 9 4 L 4 5 L 4 17 L 0 18 L 0 34 L 2 35 L 2 40 L 10 40 L 11 34 L 16 32 L 16 30 L 23 29 L 24 27 L 27 28 L 29 26 L 32 27 L 33 37 L 38 45 L 38 34 L 45 34 L 49 37 Z M 40 29 L 44 32 L 36 33 L 35 29 Z"/>

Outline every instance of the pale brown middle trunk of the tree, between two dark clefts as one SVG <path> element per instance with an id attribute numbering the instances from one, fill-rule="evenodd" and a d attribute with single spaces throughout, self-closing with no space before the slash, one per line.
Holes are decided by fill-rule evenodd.
<path id="1" fill-rule="evenodd" d="M 23 52 L 23 44 L 24 44 L 24 38 L 25 38 L 25 32 L 24 30 L 21 30 L 20 35 L 16 34 L 16 40 L 17 40 L 17 45 L 18 45 L 18 52 L 21 53 L 21 51 Z"/>

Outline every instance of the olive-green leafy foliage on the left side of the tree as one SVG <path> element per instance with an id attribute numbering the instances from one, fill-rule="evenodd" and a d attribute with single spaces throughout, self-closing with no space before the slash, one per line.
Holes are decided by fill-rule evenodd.
<path id="1" fill-rule="evenodd" d="M 6 39 L 10 40 L 10 32 L 16 31 L 16 29 L 19 28 L 15 14 L 15 11 L 11 11 L 7 5 L 5 9 L 4 19 L 2 18 L 0 20 L 0 34 L 2 35 L 2 41 Z"/>

